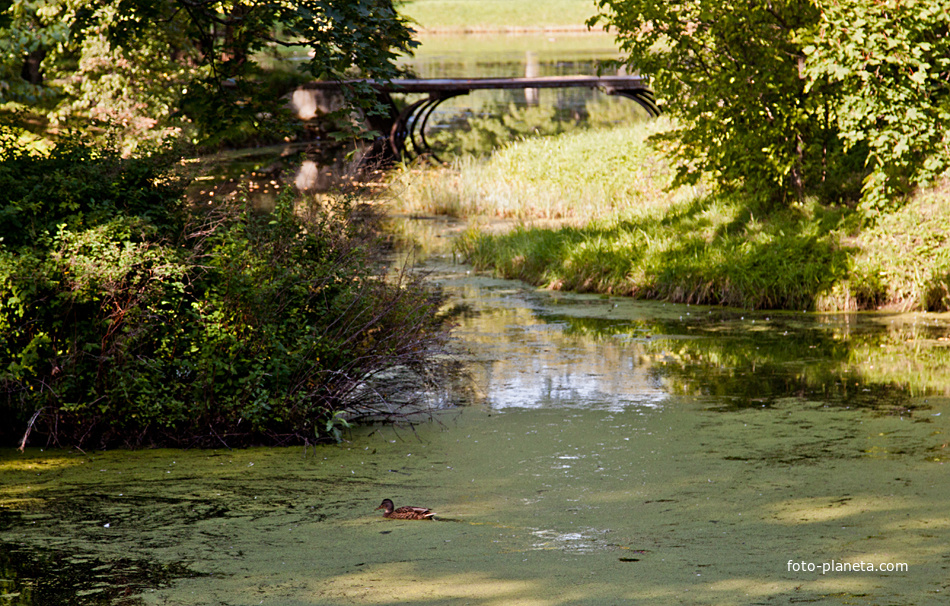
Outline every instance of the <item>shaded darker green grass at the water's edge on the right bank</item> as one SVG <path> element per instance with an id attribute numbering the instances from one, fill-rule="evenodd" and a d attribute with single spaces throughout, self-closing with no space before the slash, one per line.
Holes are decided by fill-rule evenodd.
<path id="1" fill-rule="evenodd" d="M 848 252 L 819 207 L 772 211 L 707 196 L 583 227 L 469 232 L 476 267 L 555 289 L 744 308 L 814 309 L 847 275 Z"/>

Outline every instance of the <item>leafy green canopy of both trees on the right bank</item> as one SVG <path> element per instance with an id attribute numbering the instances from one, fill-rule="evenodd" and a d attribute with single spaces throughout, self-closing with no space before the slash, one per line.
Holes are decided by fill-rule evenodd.
<path id="1" fill-rule="evenodd" d="M 880 205 L 948 165 L 948 0 L 598 7 L 679 119 L 681 179 Z"/>

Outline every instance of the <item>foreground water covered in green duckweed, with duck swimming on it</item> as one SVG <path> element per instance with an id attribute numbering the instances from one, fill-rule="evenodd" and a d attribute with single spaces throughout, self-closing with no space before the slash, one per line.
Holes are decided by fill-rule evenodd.
<path id="1" fill-rule="evenodd" d="M 0 604 L 950 591 L 947 316 L 751 314 L 431 270 L 464 306 L 464 406 L 307 451 L 4 451 Z M 385 497 L 439 520 L 384 520 Z"/>

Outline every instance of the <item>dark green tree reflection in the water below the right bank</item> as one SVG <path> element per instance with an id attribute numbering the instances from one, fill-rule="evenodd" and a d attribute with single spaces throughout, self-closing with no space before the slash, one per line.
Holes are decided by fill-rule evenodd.
<path id="1" fill-rule="evenodd" d="M 817 320 L 571 318 L 567 332 L 625 337 L 642 349 L 642 363 L 669 392 L 723 397 L 738 407 L 796 396 L 892 410 L 909 406 L 911 397 L 950 395 L 946 325 L 907 318 L 889 326 L 845 316 Z"/>

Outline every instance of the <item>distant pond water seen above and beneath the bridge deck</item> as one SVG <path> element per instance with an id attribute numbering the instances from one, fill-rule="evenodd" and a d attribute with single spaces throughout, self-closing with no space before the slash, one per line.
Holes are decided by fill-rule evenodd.
<path id="1" fill-rule="evenodd" d="M 625 73 L 603 62 L 619 59 L 605 32 L 449 35 L 420 37 L 403 67 L 420 78 L 530 78 Z M 407 96 L 411 102 L 419 96 Z M 486 153 L 519 137 L 648 119 L 629 99 L 585 88 L 481 90 L 442 103 L 426 138 L 440 158 Z"/>

